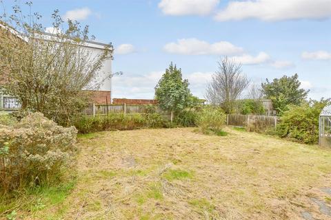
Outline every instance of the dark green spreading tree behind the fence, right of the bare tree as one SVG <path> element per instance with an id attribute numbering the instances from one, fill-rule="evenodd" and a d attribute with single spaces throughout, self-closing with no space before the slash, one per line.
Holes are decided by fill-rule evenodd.
<path id="1" fill-rule="evenodd" d="M 294 76 L 283 76 L 281 78 L 274 78 L 272 82 L 266 79 L 262 83 L 263 94 L 266 98 L 272 100 L 272 105 L 279 114 L 283 114 L 288 110 L 289 104 L 299 105 L 307 98 L 309 90 L 300 89 L 300 81 L 298 74 Z"/>

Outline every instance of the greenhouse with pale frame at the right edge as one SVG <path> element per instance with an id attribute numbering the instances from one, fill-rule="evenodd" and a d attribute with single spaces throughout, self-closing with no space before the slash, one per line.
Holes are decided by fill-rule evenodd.
<path id="1" fill-rule="evenodd" d="M 331 147 L 331 105 L 319 115 L 319 145 Z"/>

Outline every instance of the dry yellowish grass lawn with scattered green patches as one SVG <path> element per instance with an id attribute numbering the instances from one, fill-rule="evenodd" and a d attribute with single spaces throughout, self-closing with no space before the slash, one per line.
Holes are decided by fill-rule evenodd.
<path id="1" fill-rule="evenodd" d="M 82 135 L 74 181 L 17 219 L 331 219 L 330 150 L 225 131 Z"/>

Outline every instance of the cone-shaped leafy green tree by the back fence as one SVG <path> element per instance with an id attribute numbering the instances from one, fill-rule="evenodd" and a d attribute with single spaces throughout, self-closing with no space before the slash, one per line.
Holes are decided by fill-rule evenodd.
<path id="1" fill-rule="evenodd" d="M 155 87 L 155 98 L 161 109 L 171 112 L 171 121 L 174 113 L 179 113 L 197 102 L 188 85 L 188 80 L 182 78 L 181 69 L 170 63 Z"/>

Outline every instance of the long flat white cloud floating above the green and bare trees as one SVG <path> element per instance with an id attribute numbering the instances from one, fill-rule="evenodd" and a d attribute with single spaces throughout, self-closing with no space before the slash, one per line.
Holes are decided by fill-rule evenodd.
<path id="1" fill-rule="evenodd" d="M 210 44 L 198 39 L 179 39 L 177 43 L 166 44 L 163 50 L 172 54 L 186 55 L 232 55 L 241 54 L 243 52 L 241 47 L 236 47 L 227 41 Z"/>

